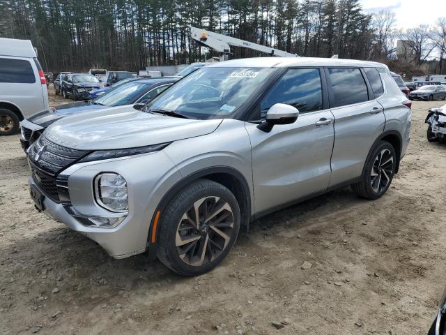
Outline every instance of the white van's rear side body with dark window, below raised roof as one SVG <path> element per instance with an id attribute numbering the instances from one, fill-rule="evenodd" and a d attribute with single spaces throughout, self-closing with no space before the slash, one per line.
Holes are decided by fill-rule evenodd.
<path id="1" fill-rule="evenodd" d="M 33 59 L 0 57 L 0 101 L 17 105 L 29 117 L 45 109 L 42 86 Z"/>

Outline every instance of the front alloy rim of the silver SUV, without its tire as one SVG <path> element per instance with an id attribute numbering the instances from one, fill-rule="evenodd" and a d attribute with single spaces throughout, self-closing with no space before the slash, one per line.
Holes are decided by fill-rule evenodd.
<path id="1" fill-rule="evenodd" d="M 228 246 L 233 235 L 231 206 L 219 197 L 206 197 L 192 204 L 180 219 L 175 246 L 187 265 L 212 262 Z"/>

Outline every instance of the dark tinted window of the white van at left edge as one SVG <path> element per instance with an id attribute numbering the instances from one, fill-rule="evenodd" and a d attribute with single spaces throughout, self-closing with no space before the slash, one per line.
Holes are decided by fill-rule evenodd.
<path id="1" fill-rule="evenodd" d="M 29 61 L 0 58 L 0 82 L 33 84 L 36 82 L 36 76 Z"/>

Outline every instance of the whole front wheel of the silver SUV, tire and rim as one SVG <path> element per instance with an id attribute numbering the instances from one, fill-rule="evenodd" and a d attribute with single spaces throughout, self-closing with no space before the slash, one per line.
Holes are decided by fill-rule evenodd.
<path id="1" fill-rule="evenodd" d="M 157 258 L 177 274 L 198 276 L 220 264 L 231 251 L 240 230 L 240 207 L 228 188 L 198 179 L 169 202 L 159 225 Z"/>

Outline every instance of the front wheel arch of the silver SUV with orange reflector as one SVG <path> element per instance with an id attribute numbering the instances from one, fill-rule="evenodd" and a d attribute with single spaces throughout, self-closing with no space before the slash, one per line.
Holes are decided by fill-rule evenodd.
<path id="1" fill-rule="evenodd" d="M 162 213 L 166 209 L 169 202 L 174 198 L 174 196 L 183 188 L 192 184 L 192 182 L 198 179 L 209 179 L 228 188 L 229 191 L 231 191 L 236 197 L 240 206 L 240 225 L 245 226 L 246 231 L 249 230 L 252 195 L 249 189 L 249 184 L 245 177 L 243 177 L 243 174 L 229 166 L 204 168 L 202 170 L 193 172 L 186 177 L 183 177 L 169 189 L 169 191 L 162 197 L 159 204 L 157 205 L 153 213 L 153 217 L 151 218 L 151 225 L 148 230 L 148 254 L 151 259 L 156 258 L 156 249 L 159 234 L 159 230 L 157 229 L 157 221 L 160 220 L 160 217 L 162 217 Z M 160 215 L 158 215 L 158 212 L 160 213 Z M 152 240 L 153 235 L 155 237 L 155 242 L 153 242 Z"/>

